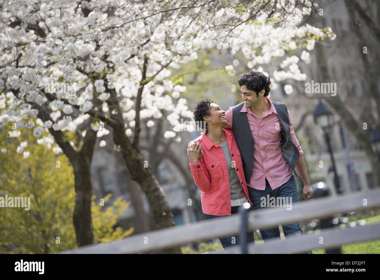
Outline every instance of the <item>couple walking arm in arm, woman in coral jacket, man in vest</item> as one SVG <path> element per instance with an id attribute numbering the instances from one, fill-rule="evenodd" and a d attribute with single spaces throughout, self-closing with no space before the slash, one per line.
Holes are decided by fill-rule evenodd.
<path id="1" fill-rule="evenodd" d="M 296 170 L 304 182 L 304 199 L 312 196 L 290 113 L 284 103 L 267 97 L 270 85 L 269 78 L 252 70 L 239 79 L 242 103 L 227 111 L 210 99 L 196 103 L 194 120 L 206 130 L 188 144 L 187 154 L 206 219 L 235 214 L 245 202 L 255 210 L 268 207 L 268 199 L 277 200 L 271 207 L 284 207 L 278 198 L 298 202 Z M 285 235 L 302 233 L 299 223 L 282 229 Z M 260 233 L 263 240 L 280 237 L 278 227 Z M 239 243 L 238 237 L 220 241 L 223 247 Z"/>

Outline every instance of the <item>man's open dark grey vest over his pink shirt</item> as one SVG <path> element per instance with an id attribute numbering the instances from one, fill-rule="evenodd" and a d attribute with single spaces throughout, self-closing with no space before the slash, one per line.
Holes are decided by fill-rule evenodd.
<path id="1" fill-rule="evenodd" d="M 284 128 L 281 130 L 282 156 L 290 166 L 291 170 L 293 170 L 295 175 L 298 177 L 297 172 L 294 170 L 294 168 L 296 167 L 299 159 L 299 151 L 296 145 L 294 145 L 293 139 L 290 136 L 288 109 L 285 103 L 282 102 L 272 101 L 272 104 L 276 109 L 277 115 Z M 244 102 L 232 107 L 232 131 L 241 153 L 244 176 L 248 184 L 253 172 L 253 148 L 255 143 L 253 141 L 253 136 L 248 123 L 247 113 L 240 111 L 243 106 Z"/>

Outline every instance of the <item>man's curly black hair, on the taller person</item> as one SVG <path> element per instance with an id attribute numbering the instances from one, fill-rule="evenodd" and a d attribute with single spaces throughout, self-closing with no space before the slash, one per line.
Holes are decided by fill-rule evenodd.
<path id="1" fill-rule="evenodd" d="M 245 86 L 250 91 L 256 92 L 257 97 L 259 92 L 265 89 L 264 96 L 268 96 L 271 91 L 271 80 L 263 73 L 251 70 L 239 79 L 239 86 Z"/>

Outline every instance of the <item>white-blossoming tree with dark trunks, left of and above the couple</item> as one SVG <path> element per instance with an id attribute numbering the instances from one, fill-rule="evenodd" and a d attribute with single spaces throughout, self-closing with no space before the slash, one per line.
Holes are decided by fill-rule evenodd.
<path id="1" fill-rule="evenodd" d="M 171 79 L 196 51 L 241 51 L 248 67 L 312 50 L 331 37 L 306 21 L 318 13 L 315 1 L 116 1 L 62 0 L 2 3 L 0 13 L 0 126 L 27 126 L 40 138 L 49 133 L 74 167 L 74 226 L 78 245 L 93 242 L 89 167 L 96 137 L 112 129 L 133 180 L 149 200 L 158 229 L 173 226 L 173 215 L 149 162 L 139 151 L 141 120 L 147 127 L 166 117 L 175 137 L 179 119 L 192 118 L 181 98 L 186 87 Z M 307 59 L 308 52 L 301 59 Z M 305 80 L 288 56 L 271 80 Z M 225 69 L 234 75 L 234 66 Z M 290 89 L 287 89 L 288 91 Z M 75 133 L 81 145 L 67 141 Z M 44 138 L 49 138 L 44 137 Z M 104 145 L 104 142 L 103 142 Z M 56 148 L 56 150 L 59 148 Z"/>

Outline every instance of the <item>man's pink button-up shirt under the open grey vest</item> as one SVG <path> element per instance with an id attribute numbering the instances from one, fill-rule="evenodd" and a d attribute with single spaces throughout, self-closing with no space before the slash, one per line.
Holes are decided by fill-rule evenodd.
<path id="1" fill-rule="evenodd" d="M 272 101 L 265 97 L 271 103 L 271 108 L 265 113 L 262 119 L 259 119 L 250 108 L 243 106 L 241 112 L 247 113 L 248 123 L 255 142 L 253 151 L 253 172 L 252 177 L 247 185 L 258 190 L 265 189 L 265 178 L 268 180 L 272 189 L 286 183 L 293 171 L 282 156 L 281 151 L 281 130 L 283 130 L 281 121 L 277 116 L 276 109 Z M 291 122 L 290 113 L 290 135 L 294 145 L 298 148 L 299 155 L 303 154 L 301 146 L 294 133 L 293 123 Z M 226 111 L 227 124 L 224 128 L 232 128 L 232 107 Z"/>

